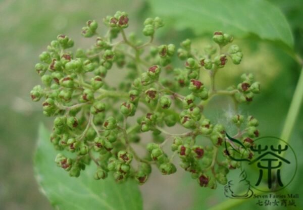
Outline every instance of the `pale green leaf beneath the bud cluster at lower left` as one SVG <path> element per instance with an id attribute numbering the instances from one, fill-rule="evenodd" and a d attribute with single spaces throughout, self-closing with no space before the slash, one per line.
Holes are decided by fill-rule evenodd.
<path id="1" fill-rule="evenodd" d="M 49 141 L 49 132 L 41 125 L 34 156 L 35 176 L 42 193 L 56 209 L 142 209 L 142 197 L 136 183 L 118 184 L 112 176 L 94 180 L 94 164 L 87 166 L 80 177 L 70 177 L 56 166 L 56 154 Z"/>

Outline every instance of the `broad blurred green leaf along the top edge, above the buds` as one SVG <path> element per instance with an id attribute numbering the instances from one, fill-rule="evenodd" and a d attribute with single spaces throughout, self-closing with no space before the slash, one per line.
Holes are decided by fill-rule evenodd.
<path id="1" fill-rule="evenodd" d="M 153 0 L 150 6 L 156 15 L 168 17 L 175 28 L 190 28 L 196 35 L 222 30 L 236 37 L 257 35 L 293 47 L 284 15 L 264 0 Z"/>

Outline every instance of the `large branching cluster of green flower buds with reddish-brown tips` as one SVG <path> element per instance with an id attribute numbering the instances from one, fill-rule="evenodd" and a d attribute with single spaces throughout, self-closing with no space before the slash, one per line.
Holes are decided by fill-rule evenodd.
<path id="1" fill-rule="evenodd" d="M 159 17 L 144 21 L 142 33 L 149 37 L 145 43 L 126 35 L 129 18 L 125 12 L 106 17 L 104 23 L 105 36 L 98 34 L 94 20 L 82 28 L 84 37 L 95 39 L 89 49 L 72 51 L 74 41 L 59 35 L 35 66 L 43 87 L 35 86 L 30 95 L 33 101 L 43 99 L 45 116 L 55 117 L 50 140 L 60 151 L 57 165 L 78 177 L 92 162 L 97 165 L 95 179 L 111 175 L 117 182 L 133 178 L 143 184 L 152 165 L 163 175 L 175 173 L 177 155 L 180 167 L 200 186 L 214 189 L 217 183 L 226 184 L 228 171 L 239 167 L 230 155 L 251 159 L 249 147 L 259 135 L 254 117 L 233 116 L 229 120 L 238 130 L 235 138 L 245 145 L 237 147 L 228 140 L 223 125 L 204 115 L 205 106 L 216 95 L 228 95 L 237 104 L 251 102 L 260 92 L 251 74 L 243 74 L 235 88 L 216 89 L 220 69 L 228 60 L 240 64 L 243 57 L 237 45 L 224 50 L 233 37 L 217 31 L 216 45 L 197 53 L 189 39 L 178 49 L 172 43 L 155 44 L 155 32 L 164 26 Z M 176 58 L 181 65 L 177 66 Z M 115 74 L 121 72 L 114 82 L 107 79 L 112 69 Z M 202 71 L 210 76 L 209 86 L 200 76 Z M 187 131 L 171 134 L 166 130 L 177 124 Z M 142 138 L 144 132 L 150 139 Z M 144 156 L 133 148 L 138 143 L 146 146 Z M 164 150 L 168 143 L 171 151 Z M 240 152 L 234 154 L 235 147 Z"/>

